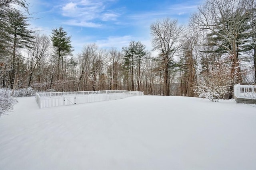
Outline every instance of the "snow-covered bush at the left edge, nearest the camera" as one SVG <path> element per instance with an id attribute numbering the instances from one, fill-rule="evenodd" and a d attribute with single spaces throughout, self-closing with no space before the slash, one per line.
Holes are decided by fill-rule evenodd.
<path id="1" fill-rule="evenodd" d="M 13 105 L 17 103 L 17 100 L 12 98 L 8 93 L 4 91 L 0 92 L 0 116 L 13 108 Z"/>

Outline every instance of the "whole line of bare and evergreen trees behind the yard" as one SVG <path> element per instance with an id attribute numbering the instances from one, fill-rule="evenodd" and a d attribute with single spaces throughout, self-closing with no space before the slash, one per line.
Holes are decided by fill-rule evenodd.
<path id="1" fill-rule="evenodd" d="M 28 29 L 24 0 L 0 0 L 0 87 L 38 91 L 138 90 L 146 95 L 232 97 L 256 80 L 255 0 L 206 0 L 187 26 L 151 24 L 153 56 L 140 41 L 122 50 L 86 44 L 73 55 L 62 27 L 46 36 Z M 150 35 L 149 35 L 150 36 Z M 219 95 L 219 96 L 218 96 Z M 215 96 L 216 97 L 216 96 Z"/>

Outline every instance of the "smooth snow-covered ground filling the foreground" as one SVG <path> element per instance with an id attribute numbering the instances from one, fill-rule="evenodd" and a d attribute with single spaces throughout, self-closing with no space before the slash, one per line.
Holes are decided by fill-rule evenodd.
<path id="1" fill-rule="evenodd" d="M 1 170 L 256 170 L 256 107 L 136 96 L 0 117 Z"/>

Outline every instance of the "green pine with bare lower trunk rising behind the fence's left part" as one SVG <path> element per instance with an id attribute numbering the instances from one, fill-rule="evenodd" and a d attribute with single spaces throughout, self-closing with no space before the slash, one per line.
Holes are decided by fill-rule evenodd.
<path id="1" fill-rule="evenodd" d="M 57 80 L 60 76 L 60 62 L 62 62 L 61 74 L 63 78 L 63 64 L 64 57 L 67 55 L 72 55 L 72 45 L 71 45 L 71 36 L 67 37 L 67 32 L 64 31 L 62 26 L 58 29 L 52 30 L 52 46 L 54 47 L 54 55 L 57 58 Z"/>

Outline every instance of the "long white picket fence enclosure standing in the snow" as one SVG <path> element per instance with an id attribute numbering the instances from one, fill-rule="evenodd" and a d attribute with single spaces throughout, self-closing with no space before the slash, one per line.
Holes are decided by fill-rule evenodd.
<path id="1" fill-rule="evenodd" d="M 128 98 L 131 96 L 143 96 L 143 92 L 127 90 L 104 90 L 82 92 L 51 92 L 36 93 L 36 102 L 39 108 L 66 106 L 91 102 L 102 102 Z"/>

